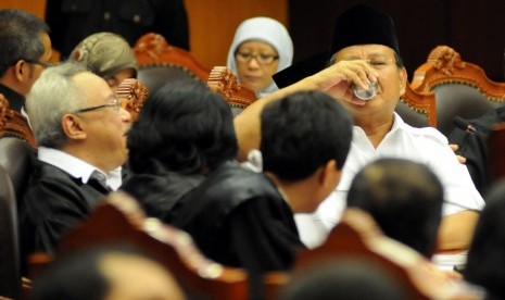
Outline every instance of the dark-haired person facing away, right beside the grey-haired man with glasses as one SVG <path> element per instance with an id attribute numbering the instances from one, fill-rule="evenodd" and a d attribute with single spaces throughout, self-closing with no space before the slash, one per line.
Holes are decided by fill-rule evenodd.
<path id="1" fill-rule="evenodd" d="M 237 153 L 228 104 L 190 78 L 157 90 L 128 133 L 131 177 L 122 189 L 149 216 L 172 223 L 179 200 Z"/>

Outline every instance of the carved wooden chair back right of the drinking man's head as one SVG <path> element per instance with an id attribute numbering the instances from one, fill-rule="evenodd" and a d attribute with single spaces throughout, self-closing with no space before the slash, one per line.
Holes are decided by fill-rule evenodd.
<path id="1" fill-rule="evenodd" d="M 411 87 L 432 91 L 437 99 L 437 128 L 449 136 L 456 115 L 475 118 L 505 101 L 505 83 L 495 83 L 484 71 L 462 60 L 449 46 L 434 48 L 414 73 Z"/>

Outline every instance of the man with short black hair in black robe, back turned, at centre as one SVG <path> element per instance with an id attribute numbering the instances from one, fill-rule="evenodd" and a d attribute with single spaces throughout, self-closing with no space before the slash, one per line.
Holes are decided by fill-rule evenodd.
<path id="1" fill-rule="evenodd" d="M 303 249 L 293 213 L 313 212 L 337 186 L 351 142 L 351 117 L 329 96 L 293 93 L 262 114 L 263 166 L 225 162 L 182 199 L 174 225 L 202 252 L 254 275 L 289 270 Z"/>

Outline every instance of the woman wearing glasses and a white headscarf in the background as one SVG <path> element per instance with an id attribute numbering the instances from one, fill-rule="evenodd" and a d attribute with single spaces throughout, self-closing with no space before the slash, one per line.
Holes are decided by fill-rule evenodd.
<path id="1" fill-rule="evenodd" d="M 286 27 L 274 18 L 258 16 L 237 28 L 227 66 L 260 98 L 278 89 L 272 75 L 290 66 L 292 60 L 293 42 Z"/>

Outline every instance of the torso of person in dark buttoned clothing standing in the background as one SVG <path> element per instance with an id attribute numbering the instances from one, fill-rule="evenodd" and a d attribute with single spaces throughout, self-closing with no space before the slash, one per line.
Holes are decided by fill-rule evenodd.
<path id="1" fill-rule="evenodd" d="M 147 33 L 189 50 L 188 14 L 184 0 L 48 0 L 46 21 L 62 58 L 86 37 L 111 32 L 134 47 Z"/>

